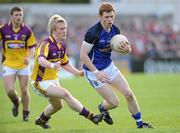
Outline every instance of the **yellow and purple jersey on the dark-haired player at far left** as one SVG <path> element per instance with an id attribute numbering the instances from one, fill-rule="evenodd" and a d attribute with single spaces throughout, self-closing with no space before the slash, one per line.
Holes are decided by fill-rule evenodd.
<path id="1" fill-rule="evenodd" d="M 29 56 L 29 49 L 36 46 L 32 30 L 22 23 L 15 31 L 12 23 L 0 26 L 0 40 L 2 41 L 2 63 L 5 66 L 22 69 L 27 66 L 25 59 Z"/>

